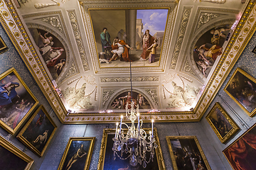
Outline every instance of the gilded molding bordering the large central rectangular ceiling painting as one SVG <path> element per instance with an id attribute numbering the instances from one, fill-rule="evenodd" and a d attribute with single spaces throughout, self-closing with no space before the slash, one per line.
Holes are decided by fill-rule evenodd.
<path id="1" fill-rule="evenodd" d="M 166 23 L 166 30 L 164 36 L 163 46 L 161 48 L 161 56 L 166 56 L 169 53 L 170 39 L 171 33 L 174 29 L 174 22 L 176 17 L 176 12 L 178 10 L 178 1 L 168 2 L 167 4 L 163 4 L 160 1 L 157 1 L 156 4 L 151 1 L 151 3 L 139 3 L 140 1 L 136 1 L 136 4 L 133 4 L 132 1 L 126 1 L 127 3 L 122 3 L 121 1 L 106 1 L 107 4 L 102 3 L 102 1 L 79 1 L 80 9 L 82 13 L 82 18 L 84 21 L 85 35 L 88 40 L 88 50 L 90 51 L 90 55 L 92 58 L 92 64 L 95 68 L 95 73 L 116 73 L 120 72 L 129 72 L 129 67 L 113 67 L 112 69 L 107 67 L 100 67 L 100 62 L 98 61 L 97 48 L 92 28 L 92 22 L 90 18 L 90 10 L 92 9 L 122 9 L 122 8 L 169 8 L 168 19 Z M 141 1 L 144 2 L 144 1 Z M 149 2 L 149 1 L 148 1 Z M 138 72 L 164 72 L 166 67 L 166 59 L 167 57 L 161 57 L 159 60 L 158 67 L 134 67 Z"/>

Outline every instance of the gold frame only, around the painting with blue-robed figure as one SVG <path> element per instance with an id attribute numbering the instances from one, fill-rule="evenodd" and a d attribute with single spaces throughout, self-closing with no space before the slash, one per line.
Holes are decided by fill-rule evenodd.
<path id="1" fill-rule="evenodd" d="M 28 112 L 26 113 L 26 115 L 23 116 L 23 118 L 21 119 L 21 121 L 16 125 L 15 128 L 11 128 L 9 127 L 9 125 L 7 125 L 6 123 L 4 123 L 3 120 L 0 120 L 0 125 L 2 128 L 4 128 L 4 130 L 6 130 L 7 132 L 9 132 L 11 135 L 14 135 L 15 132 L 17 132 L 17 130 L 21 127 L 21 125 L 23 124 L 23 122 L 26 120 L 26 118 L 28 118 L 28 115 L 30 115 L 30 113 L 33 111 L 34 108 L 36 108 L 36 106 L 38 105 L 39 101 L 37 100 L 37 98 L 32 94 L 32 92 L 30 91 L 30 89 L 28 89 L 28 86 L 26 86 L 26 84 L 24 83 L 24 81 L 21 79 L 21 77 L 18 75 L 18 72 L 16 71 L 16 69 L 14 69 L 14 67 L 12 67 L 11 69 L 7 70 L 6 72 L 4 72 L 3 74 L 0 75 L 0 80 L 4 79 L 5 77 L 9 76 L 10 74 L 14 74 L 16 76 L 16 78 L 18 79 L 18 81 L 21 82 L 21 84 L 19 86 L 23 86 L 27 93 L 31 96 L 31 98 L 33 98 L 33 100 L 35 101 L 35 103 L 33 104 L 33 106 L 28 110 Z M 25 98 L 26 99 L 26 98 Z"/>

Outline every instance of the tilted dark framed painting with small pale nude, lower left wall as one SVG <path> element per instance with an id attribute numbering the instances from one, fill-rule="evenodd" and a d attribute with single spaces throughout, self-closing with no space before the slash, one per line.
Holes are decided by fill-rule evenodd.
<path id="1" fill-rule="evenodd" d="M 21 129 L 17 137 L 24 145 L 38 154 L 39 157 L 42 157 L 56 130 L 57 126 L 43 105 L 41 105 Z"/>

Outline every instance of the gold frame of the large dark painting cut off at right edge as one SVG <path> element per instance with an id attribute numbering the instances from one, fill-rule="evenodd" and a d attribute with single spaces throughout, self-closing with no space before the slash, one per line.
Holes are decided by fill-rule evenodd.
<path id="1" fill-rule="evenodd" d="M 248 111 L 248 109 L 245 108 L 245 106 L 242 105 L 242 102 L 238 101 L 238 98 L 235 98 L 235 96 L 233 94 L 231 94 L 231 92 L 229 91 L 229 86 L 230 86 L 230 84 L 234 83 L 235 78 L 236 77 L 241 77 L 241 75 L 239 76 L 239 74 L 242 74 L 242 80 L 240 79 L 239 80 L 240 82 L 238 82 L 240 84 L 240 86 L 245 83 L 244 81 L 246 79 L 249 79 L 250 81 L 252 81 L 251 83 L 253 83 L 253 85 L 255 85 L 255 87 L 256 87 L 256 79 L 254 77 L 250 76 L 249 74 L 247 74 L 247 72 L 243 71 L 242 69 L 240 69 L 238 67 L 237 69 L 235 69 L 235 72 L 233 73 L 232 77 L 228 81 L 228 84 L 226 84 L 226 86 L 224 88 L 224 91 L 228 94 L 228 96 L 230 96 L 230 98 L 233 99 L 233 101 L 235 101 L 235 103 L 238 104 L 238 106 L 240 106 L 240 108 L 242 108 L 243 111 L 245 111 L 245 113 L 247 113 L 247 115 L 252 117 L 256 113 L 256 106 L 253 108 L 253 111 Z M 235 86 L 239 86 L 239 84 L 236 84 Z M 241 94 L 242 94 L 242 89 L 237 89 L 237 90 L 239 92 L 241 92 Z"/>

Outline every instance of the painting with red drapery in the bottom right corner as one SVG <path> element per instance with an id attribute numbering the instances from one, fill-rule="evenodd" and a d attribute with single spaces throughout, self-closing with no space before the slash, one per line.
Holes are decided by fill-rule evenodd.
<path id="1" fill-rule="evenodd" d="M 256 124 L 223 150 L 234 170 L 252 170 L 256 167 Z"/>

